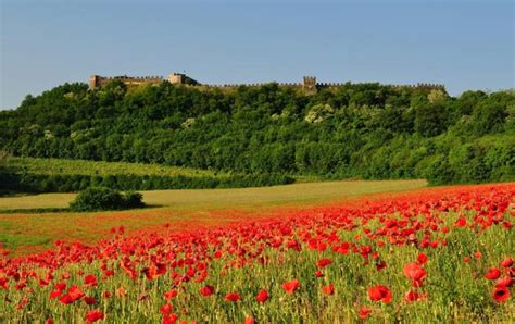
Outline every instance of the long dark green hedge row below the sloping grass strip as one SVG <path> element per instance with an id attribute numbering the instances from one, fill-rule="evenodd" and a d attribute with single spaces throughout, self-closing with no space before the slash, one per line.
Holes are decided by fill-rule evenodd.
<path id="1" fill-rule="evenodd" d="M 226 177 L 188 177 L 156 175 L 46 175 L 0 173 L 0 191 L 71 192 L 88 187 L 127 190 L 243 188 L 292 184 L 294 179 L 280 174 L 230 175 Z"/>

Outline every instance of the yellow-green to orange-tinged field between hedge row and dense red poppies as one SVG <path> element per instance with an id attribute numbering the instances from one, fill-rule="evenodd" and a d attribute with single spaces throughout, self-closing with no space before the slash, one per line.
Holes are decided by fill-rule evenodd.
<path id="1" fill-rule="evenodd" d="M 301 208 L 378 192 L 413 190 L 425 180 L 329 182 L 267 188 L 158 190 L 143 200 L 161 208 L 98 213 L 0 214 L 0 241 L 16 253 L 34 252 L 60 238 L 95 241 L 111 227 L 127 232 L 171 223 L 172 229 L 216 226 L 243 217 L 266 216 L 278 207 Z M 1 209 L 66 207 L 73 194 L 0 198 Z"/>

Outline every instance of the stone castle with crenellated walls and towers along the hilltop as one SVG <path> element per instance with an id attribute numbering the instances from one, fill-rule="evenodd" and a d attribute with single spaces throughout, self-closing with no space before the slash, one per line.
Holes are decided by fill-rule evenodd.
<path id="1" fill-rule="evenodd" d="M 196 79 L 187 76 L 183 73 L 171 73 L 168 77 L 165 79 L 161 76 L 143 76 L 143 77 L 134 77 L 134 76 L 112 76 L 105 77 L 100 75 L 91 75 L 89 78 L 89 88 L 96 89 L 101 88 L 109 83 L 114 80 L 123 82 L 127 86 L 139 86 L 139 85 L 160 85 L 163 82 L 167 80 L 174 85 L 186 85 L 186 86 L 194 86 L 194 87 L 203 87 L 203 88 L 222 88 L 222 89 L 235 89 L 239 86 L 248 86 L 248 87 L 258 87 L 266 85 L 266 83 L 261 84 L 223 84 L 223 85 L 204 85 L 200 84 Z M 318 83 L 315 76 L 304 76 L 302 78 L 302 83 L 278 83 L 279 86 L 289 86 L 294 88 L 300 88 L 309 94 L 314 94 L 321 88 L 334 88 L 340 87 L 346 85 L 344 83 Z M 413 88 L 424 88 L 424 89 L 444 89 L 443 85 L 439 84 L 416 84 L 416 85 L 389 85 L 392 87 L 413 87 Z"/>

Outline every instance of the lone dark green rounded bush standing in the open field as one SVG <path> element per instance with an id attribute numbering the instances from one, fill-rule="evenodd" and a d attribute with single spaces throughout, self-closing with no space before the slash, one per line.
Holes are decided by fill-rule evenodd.
<path id="1" fill-rule="evenodd" d="M 141 208 L 145 205 L 141 199 L 139 192 L 123 195 L 105 187 L 89 187 L 77 195 L 77 198 L 70 203 L 70 209 L 76 212 L 90 212 Z"/>

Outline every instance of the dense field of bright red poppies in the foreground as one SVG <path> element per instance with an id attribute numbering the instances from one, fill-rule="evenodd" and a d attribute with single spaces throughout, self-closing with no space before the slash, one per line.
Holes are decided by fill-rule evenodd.
<path id="1" fill-rule="evenodd" d="M 515 184 L 0 252 L 2 323 L 510 322 Z"/>

